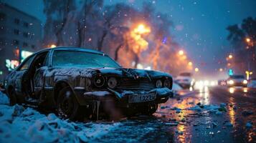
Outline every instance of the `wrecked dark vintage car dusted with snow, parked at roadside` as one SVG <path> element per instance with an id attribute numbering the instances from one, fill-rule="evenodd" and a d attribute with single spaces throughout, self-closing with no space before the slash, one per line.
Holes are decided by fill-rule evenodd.
<path id="1" fill-rule="evenodd" d="M 10 104 L 52 109 L 64 119 L 101 113 L 153 114 L 173 96 L 173 79 L 160 71 L 125 69 L 101 51 L 75 47 L 44 49 L 6 77 Z"/>

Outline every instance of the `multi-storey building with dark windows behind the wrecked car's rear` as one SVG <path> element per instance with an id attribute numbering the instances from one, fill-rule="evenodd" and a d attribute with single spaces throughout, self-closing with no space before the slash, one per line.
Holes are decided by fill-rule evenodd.
<path id="1" fill-rule="evenodd" d="M 42 22 L 0 2 L 0 82 L 20 61 L 41 49 Z"/>

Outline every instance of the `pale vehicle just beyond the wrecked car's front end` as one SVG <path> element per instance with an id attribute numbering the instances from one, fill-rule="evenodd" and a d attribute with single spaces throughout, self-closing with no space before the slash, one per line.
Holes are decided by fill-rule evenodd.
<path id="1" fill-rule="evenodd" d="M 181 73 L 178 77 L 176 77 L 175 82 L 182 88 L 189 89 L 189 87 L 193 87 L 192 74 L 189 72 Z"/>

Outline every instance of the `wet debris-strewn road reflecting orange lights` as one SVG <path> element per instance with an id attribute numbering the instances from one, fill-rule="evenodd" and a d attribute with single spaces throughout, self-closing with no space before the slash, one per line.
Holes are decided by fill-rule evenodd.
<path id="1" fill-rule="evenodd" d="M 256 142 L 256 89 L 204 87 L 123 119 L 98 142 Z M 192 107 L 192 108 L 191 108 Z"/>

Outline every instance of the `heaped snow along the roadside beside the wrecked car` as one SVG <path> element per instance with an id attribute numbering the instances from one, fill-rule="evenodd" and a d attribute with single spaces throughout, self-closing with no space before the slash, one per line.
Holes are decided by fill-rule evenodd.
<path id="1" fill-rule="evenodd" d="M 55 114 L 7 103 L 8 98 L 0 92 L 0 142 L 93 142 L 120 126 L 120 122 L 69 122 Z"/>

